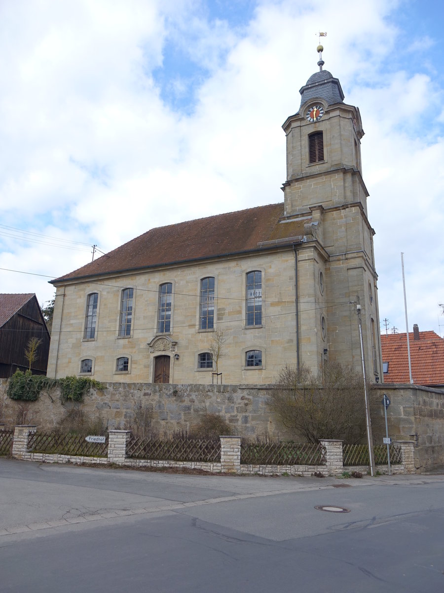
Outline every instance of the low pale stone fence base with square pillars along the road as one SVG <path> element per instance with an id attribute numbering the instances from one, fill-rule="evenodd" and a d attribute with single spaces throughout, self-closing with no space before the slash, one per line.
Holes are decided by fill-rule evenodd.
<path id="1" fill-rule="evenodd" d="M 39 461 L 46 463 L 92 463 L 92 464 L 116 464 L 122 467 L 178 467 L 188 469 L 199 469 L 210 473 L 234 473 L 234 474 L 259 474 L 262 476 L 276 476 L 288 474 L 289 476 L 310 477 L 315 473 L 323 476 L 340 476 L 345 469 L 349 471 L 362 471 L 368 473 L 366 466 L 344 468 L 342 465 L 342 441 L 326 439 L 321 441 L 325 447 L 326 464 L 323 466 L 289 466 L 289 465 L 262 465 L 262 464 L 241 464 L 241 438 L 240 436 L 221 436 L 221 461 L 220 463 L 205 463 L 194 461 L 168 461 L 168 460 L 138 460 L 126 456 L 126 449 L 130 431 L 109 431 L 107 457 L 86 457 L 81 455 L 62 455 L 48 453 L 34 453 L 28 451 L 30 436 L 36 432 L 37 427 L 33 425 L 15 426 L 14 441 L 12 443 L 12 457 L 28 461 Z M 413 465 L 413 442 L 397 442 L 401 446 L 402 466 L 397 466 L 394 473 L 414 473 Z M 340 451 L 340 455 L 339 455 Z M 410 463 L 409 463 L 410 462 Z M 377 466 L 381 473 L 387 473 L 384 468 Z"/>

